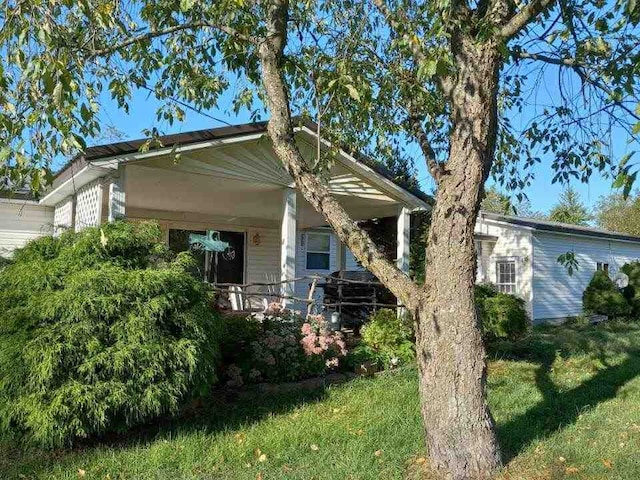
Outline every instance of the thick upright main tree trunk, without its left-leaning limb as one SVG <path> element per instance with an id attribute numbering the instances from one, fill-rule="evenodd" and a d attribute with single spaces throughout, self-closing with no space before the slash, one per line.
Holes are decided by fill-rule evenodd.
<path id="1" fill-rule="evenodd" d="M 501 464 L 486 404 L 486 354 L 474 301 L 474 226 L 495 150 L 495 45 L 453 39 L 449 159 L 436 194 L 419 310 L 422 415 L 432 465 L 454 479 L 486 479 Z"/>

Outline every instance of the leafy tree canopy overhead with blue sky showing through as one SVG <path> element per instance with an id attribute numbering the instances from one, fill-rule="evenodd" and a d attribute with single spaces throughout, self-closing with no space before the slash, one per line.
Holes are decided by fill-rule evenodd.
<path id="1" fill-rule="evenodd" d="M 498 183 L 526 187 L 547 157 L 553 181 L 585 181 L 599 171 L 628 188 L 634 161 L 612 142 L 637 143 L 640 130 L 640 10 L 634 1 L 530 6 L 515 15 L 498 0 L 291 2 L 282 65 L 291 108 L 319 120 L 327 137 L 401 169 L 420 152 L 437 172 L 451 127 L 452 35 L 462 32 L 497 41 L 504 55 Z M 513 21 L 496 27 L 503 7 Z M 140 91 L 160 100 L 156 121 L 169 127 L 188 108 L 210 116 L 225 92 L 234 111 L 258 117 L 264 92 L 256 49 L 267 8 L 237 0 L 4 2 L 0 166 L 14 184 L 29 180 L 39 190 L 55 158 L 99 135 L 105 104 L 128 111 Z M 525 13 L 531 18 L 520 22 Z M 145 131 L 150 139 L 157 133 Z"/>

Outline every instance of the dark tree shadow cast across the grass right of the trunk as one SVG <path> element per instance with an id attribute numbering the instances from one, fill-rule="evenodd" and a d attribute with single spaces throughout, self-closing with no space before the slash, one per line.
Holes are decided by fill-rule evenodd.
<path id="1" fill-rule="evenodd" d="M 599 359 L 605 368 L 577 387 L 564 391 L 556 387 L 551 378 L 551 371 L 559 354 L 562 353 L 563 358 L 566 358 L 566 355 L 570 356 L 571 353 L 557 342 L 529 344 L 524 358 L 514 355 L 513 350 L 506 354 L 504 351 L 493 352 L 494 355 L 501 353 L 502 358 L 506 356 L 538 363 L 535 383 L 543 397 L 541 402 L 526 413 L 498 426 L 505 462 L 518 455 L 534 440 L 573 424 L 586 410 L 614 398 L 620 388 L 640 375 L 640 349 L 627 349 L 626 358 L 620 363 L 612 364 L 612 352 L 604 346 L 594 348 L 592 342 L 582 339 L 579 344 L 568 347 L 571 353 L 580 354 L 588 351 L 591 356 Z"/>

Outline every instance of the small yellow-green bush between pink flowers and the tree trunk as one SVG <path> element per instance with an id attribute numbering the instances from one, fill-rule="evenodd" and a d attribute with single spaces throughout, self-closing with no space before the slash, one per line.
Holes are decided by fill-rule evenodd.
<path id="1" fill-rule="evenodd" d="M 374 313 L 362 327 L 361 344 L 353 352 L 359 360 L 372 360 L 381 367 L 410 363 L 416 358 L 415 341 L 409 319 L 393 310 Z"/>

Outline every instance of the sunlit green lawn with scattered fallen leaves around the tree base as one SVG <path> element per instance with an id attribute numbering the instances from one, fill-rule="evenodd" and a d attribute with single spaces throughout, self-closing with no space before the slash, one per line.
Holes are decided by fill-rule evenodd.
<path id="1" fill-rule="evenodd" d="M 640 478 L 640 325 L 546 328 L 496 346 L 489 400 L 506 479 Z M 218 400 L 71 451 L 0 447 L 0 478 L 428 478 L 416 371 Z"/>

